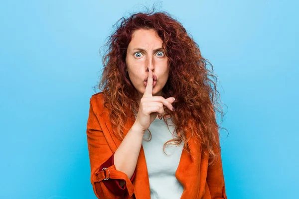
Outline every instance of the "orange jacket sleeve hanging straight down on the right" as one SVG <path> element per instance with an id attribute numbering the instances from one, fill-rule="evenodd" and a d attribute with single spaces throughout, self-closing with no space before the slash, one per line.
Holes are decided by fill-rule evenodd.
<path id="1" fill-rule="evenodd" d="M 216 140 L 219 142 L 219 135 L 217 133 Z M 207 184 L 211 194 L 211 199 L 227 199 L 224 183 L 224 175 L 222 169 L 221 150 L 214 147 L 217 152 L 215 162 L 208 167 Z"/>

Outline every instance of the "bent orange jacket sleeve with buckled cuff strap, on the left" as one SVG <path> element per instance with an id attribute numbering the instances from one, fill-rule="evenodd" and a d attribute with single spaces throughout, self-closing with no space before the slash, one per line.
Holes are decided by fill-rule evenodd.
<path id="1" fill-rule="evenodd" d="M 115 165 L 111 161 L 114 153 L 106 141 L 100 123 L 93 111 L 91 101 L 86 134 L 91 167 L 90 180 L 96 197 L 98 199 L 123 199 L 125 192 L 131 197 L 134 193 L 133 184 L 127 174 L 116 170 Z M 131 179 L 133 180 L 133 178 L 134 176 Z M 125 187 L 121 191 L 113 189 L 116 187 L 118 180 L 125 181 Z M 120 186 L 119 188 L 122 189 Z"/>

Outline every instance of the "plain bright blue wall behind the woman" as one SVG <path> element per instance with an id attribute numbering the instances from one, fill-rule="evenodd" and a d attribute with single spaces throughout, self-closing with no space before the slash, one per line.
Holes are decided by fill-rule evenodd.
<path id="1" fill-rule="evenodd" d="M 1 2 L 1 199 L 96 198 L 86 122 L 98 51 L 118 19 L 153 2 Z M 158 2 L 219 77 L 228 198 L 298 197 L 298 1 Z"/>

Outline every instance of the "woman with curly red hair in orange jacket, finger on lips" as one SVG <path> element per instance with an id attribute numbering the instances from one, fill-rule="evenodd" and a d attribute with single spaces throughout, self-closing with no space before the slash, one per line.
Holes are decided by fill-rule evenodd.
<path id="1" fill-rule="evenodd" d="M 226 199 L 213 68 L 167 12 L 122 19 L 103 60 L 103 92 L 90 99 L 95 195 Z"/>

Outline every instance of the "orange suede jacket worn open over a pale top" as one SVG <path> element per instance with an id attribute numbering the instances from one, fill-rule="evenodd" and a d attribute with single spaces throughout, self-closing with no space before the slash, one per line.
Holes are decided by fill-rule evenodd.
<path id="1" fill-rule="evenodd" d="M 121 140 L 112 133 L 109 111 L 104 108 L 102 96 L 102 93 L 97 93 L 90 98 L 86 131 L 93 191 L 99 199 L 150 199 L 149 176 L 143 147 L 138 157 L 133 183 L 125 173 L 116 170 L 114 165 L 108 167 L 109 171 L 99 171 L 100 166 L 121 144 Z M 134 122 L 135 118 L 129 118 L 125 127 L 130 129 Z M 124 129 L 125 135 L 128 131 Z M 208 167 L 208 158 L 202 156 L 200 146 L 191 140 L 189 148 L 192 158 L 183 150 L 175 173 L 176 179 L 184 189 L 181 199 L 227 199 L 220 151 L 215 164 Z M 108 176 L 110 179 L 125 180 L 128 192 L 123 196 L 111 193 L 103 183 Z"/>

